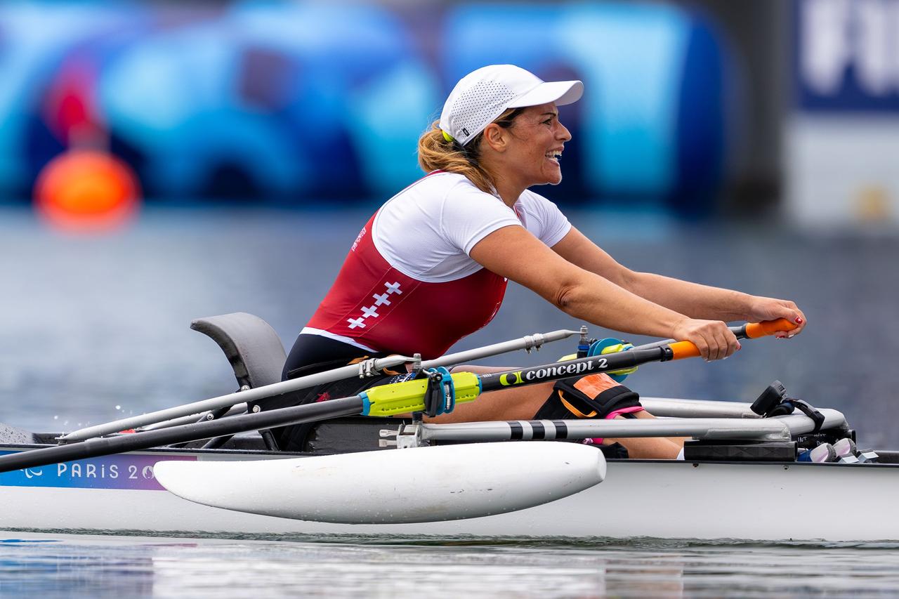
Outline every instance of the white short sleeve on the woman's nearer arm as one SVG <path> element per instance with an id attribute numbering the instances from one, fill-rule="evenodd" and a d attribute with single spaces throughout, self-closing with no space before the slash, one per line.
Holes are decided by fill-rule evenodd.
<path id="1" fill-rule="evenodd" d="M 453 186 L 443 200 L 441 233 L 467 255 L 481 239 L 510 225 L 521 226 L 514 210 L 471 184 Z"/>

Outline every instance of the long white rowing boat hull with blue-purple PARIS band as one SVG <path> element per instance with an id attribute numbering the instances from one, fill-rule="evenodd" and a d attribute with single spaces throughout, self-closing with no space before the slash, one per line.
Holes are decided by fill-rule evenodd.
<path id="1" fill-rule="evenodd" d="M 891 464 L 610 460 L 600 485 L 518 512 L 438 523 L 332 524 L 243 514 L 181 499 L 163 490 L 152 466 L 147 468 L 173 458 L 253 460 L 271 455 L 148 451 L 84 460 L 77 473 L 71 464 L 6 473 L 0 475 L 0 529 L 222 536 L 899 540 L 899 522 L 892 517 L 899 466 Z M 59 471 L 63 466 L 66 469 Z"/>

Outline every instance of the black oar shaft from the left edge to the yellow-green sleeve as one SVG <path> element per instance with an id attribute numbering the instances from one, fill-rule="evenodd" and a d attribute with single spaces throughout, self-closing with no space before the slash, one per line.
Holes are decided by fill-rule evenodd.
<path id="1" fill-rule="evenodd" d="M 298 425 L 326 418 L 353 416 L 362 409 L 362 399 L 333 399 L 305 406 L 283 407 L 278 410 L 232 416 L 222 420 L 173 426 L 146 433 L 122 434 L 115 437 L 88 439 L 71 445 L 54 445 L 37 450 L 21 451 L 0 456 L 0 472 L 21 468 L 37 468 L 63 461 L 86 460 L 111 453 L 148 450 L 169 443 L 199 441 L 225 434 L 257 431 L 271 426 Z"/>

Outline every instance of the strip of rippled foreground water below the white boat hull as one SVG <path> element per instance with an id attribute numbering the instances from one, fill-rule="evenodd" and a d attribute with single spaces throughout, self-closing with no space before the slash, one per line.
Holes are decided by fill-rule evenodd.
<path id="1" fill-rule="evenodd" d="M 637 540 L 458 545 L 0 532 L 20 596 L 873 597 L 899 588 L 883 545 Z"/>

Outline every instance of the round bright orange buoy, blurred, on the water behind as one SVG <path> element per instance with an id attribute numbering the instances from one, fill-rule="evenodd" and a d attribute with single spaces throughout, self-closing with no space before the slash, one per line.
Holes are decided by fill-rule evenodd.
<path id="1" fill-rule="evenodd" d="M 131 167 L 106 152 L 70 150 L 44 166 L 34 184 L 40 216 L 67 231 L 120 228 L 138 210 L 140 184 Z"/>

